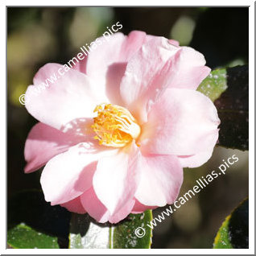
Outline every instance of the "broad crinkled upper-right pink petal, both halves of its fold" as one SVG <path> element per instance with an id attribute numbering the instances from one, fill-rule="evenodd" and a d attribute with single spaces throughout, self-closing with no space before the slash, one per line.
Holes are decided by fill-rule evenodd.
<path id="1" fill-rule="evenodd" d="M 151 37 L 127 64 L 121 96 L 136 118 L 144 122 L 149 104 L 163 89 L 196 89 L 210 72 L 202 54 L 177 44 L 163 37 Z"/>

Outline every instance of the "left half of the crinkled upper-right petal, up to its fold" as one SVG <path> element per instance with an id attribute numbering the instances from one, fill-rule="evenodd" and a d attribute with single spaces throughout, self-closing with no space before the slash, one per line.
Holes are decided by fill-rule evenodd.
<path id="1" fill-rule="evenodd" d="M 147 102 L 163 89 L 163 82 L 159 80 L 162 69 L 179 49 L 163 37 L 152 37 L 129 60 L 120 92 L 136 118 L 146 119 Z"/>

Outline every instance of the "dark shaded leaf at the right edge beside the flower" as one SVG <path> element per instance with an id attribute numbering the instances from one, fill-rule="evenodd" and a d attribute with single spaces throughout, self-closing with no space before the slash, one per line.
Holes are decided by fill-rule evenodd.
<path id="1" fill-rule="evenodd" d="M 219 144 L 249 149 L 249 72 L 248 66 L 227 69 L 228 88 L 215 101 L 221 119 Z"/>

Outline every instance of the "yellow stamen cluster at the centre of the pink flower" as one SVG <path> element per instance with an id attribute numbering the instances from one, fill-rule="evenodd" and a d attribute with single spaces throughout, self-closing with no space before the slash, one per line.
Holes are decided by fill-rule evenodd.
<path id="1" fill-rule="evenodd" d="M 138 138 L 141 132 L 136 119 L 122 106 L 101 104 L 93 112 L 97 113 L 92 126 L 97 134 L 94 138 L 99 140 L 100 145 L 124 147 Z"/>

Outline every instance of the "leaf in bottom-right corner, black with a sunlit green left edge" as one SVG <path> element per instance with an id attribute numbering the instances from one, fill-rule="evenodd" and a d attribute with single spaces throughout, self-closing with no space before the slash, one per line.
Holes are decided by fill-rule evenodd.
<path id="1" fill-rule="evenodd" d="M 249 242 L 249 200 L 233 210 L 217 232 L 213 249 L 247 249 Z"/>

